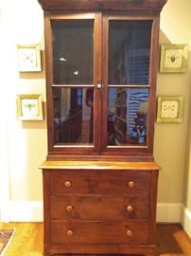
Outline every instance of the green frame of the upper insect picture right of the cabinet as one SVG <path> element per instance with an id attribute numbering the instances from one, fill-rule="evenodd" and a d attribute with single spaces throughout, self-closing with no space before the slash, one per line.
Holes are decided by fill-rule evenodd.
<path id="1" fill-rule="evenodd" d="M 171 68 L 165 67 L 165 50 L 166 49 L 182 49 L 182 67 Z M 188 45 L 161 45 L 160 73 L 184 73 L 187 70 L 188 64 Z"/>

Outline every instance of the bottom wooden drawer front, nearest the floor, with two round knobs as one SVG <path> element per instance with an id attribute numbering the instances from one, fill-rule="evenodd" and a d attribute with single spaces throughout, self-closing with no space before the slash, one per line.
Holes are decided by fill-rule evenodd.
<path id="1" fill-rule="evenodd" d="M 148 244 L 147 222 L 52 221 L 53 244 Z"/>

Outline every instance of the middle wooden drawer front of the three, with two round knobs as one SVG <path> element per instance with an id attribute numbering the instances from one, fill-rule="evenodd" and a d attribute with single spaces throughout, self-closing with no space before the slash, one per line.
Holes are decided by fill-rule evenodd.
<path id="1" fill-rule="evenodd" d="M 148 197 L 52 196 L 51 219 L 148 219 Z"/>

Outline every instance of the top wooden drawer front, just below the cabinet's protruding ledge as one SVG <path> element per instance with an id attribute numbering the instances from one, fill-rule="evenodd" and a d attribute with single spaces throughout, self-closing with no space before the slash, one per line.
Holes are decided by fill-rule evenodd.
<path id="1" fill-rule="evenodd" d="M 51 194 L 124 194 L 148 196 L 149 172 L 58 171 L 51 174 Z"/>

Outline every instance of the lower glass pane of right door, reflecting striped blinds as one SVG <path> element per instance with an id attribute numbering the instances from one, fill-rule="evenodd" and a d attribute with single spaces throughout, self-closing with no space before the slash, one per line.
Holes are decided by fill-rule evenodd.
<path id="1" fill-rule="evenodd" d="M 108 145 L 147 144 L 148 88 L 110 88 Z"/>

